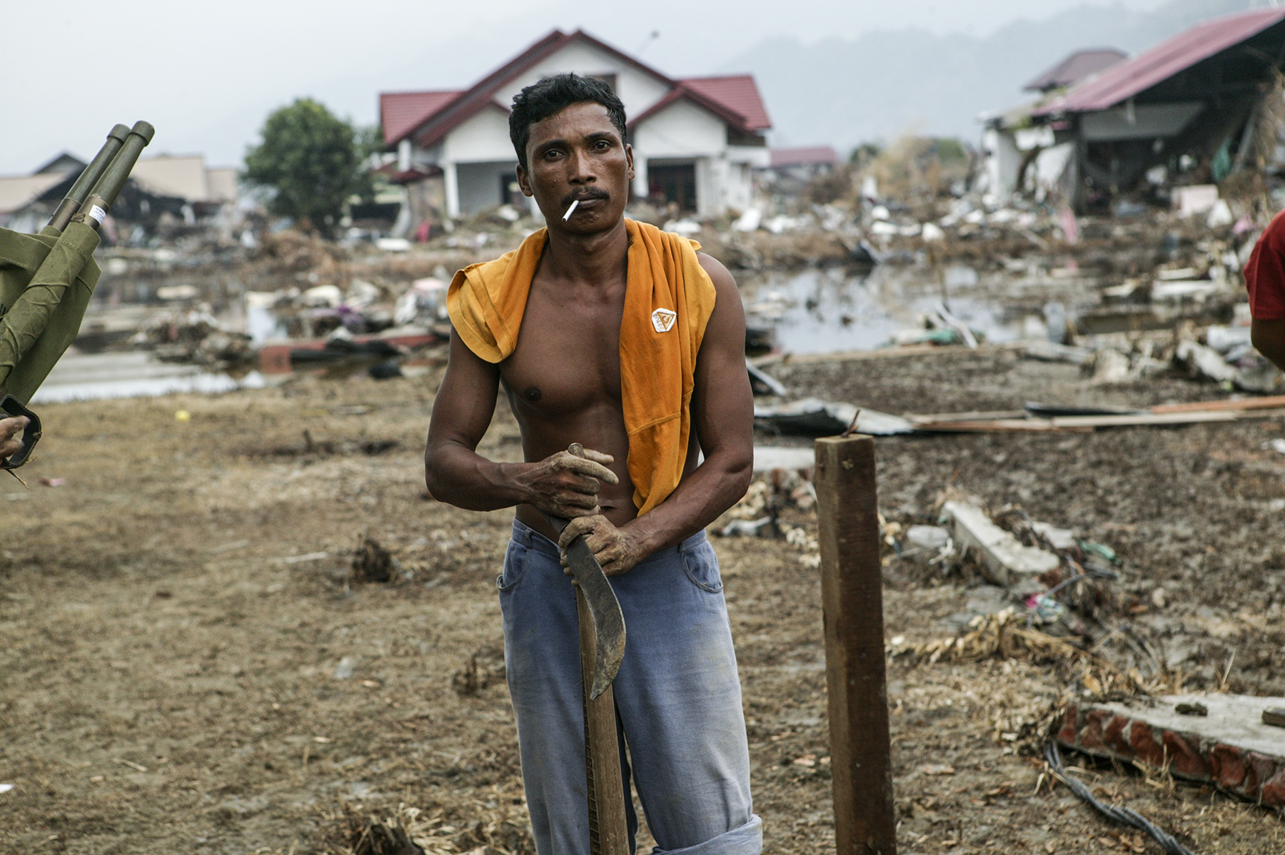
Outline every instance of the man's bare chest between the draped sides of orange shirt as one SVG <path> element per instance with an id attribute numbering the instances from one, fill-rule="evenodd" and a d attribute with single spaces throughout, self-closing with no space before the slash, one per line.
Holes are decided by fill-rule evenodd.
<path id="1" fill-rule="evenodd" d="M 518 345 L 500 366 L 505 385 L 528 407 L 547 416 L 573 415 L 621 399 L 621 315 L 618 295 L 574 299 L 532 288 Z"/>

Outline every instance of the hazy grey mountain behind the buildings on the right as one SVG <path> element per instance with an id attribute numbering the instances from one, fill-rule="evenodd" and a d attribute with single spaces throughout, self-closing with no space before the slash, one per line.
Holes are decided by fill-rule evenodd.
<path id="1" fill-rule="evenodd" d="M 1151 12 L 1085 5 L 986 37 L 905 30 L 810 45 L 772 39 L 720 71 L 753 72 L 775 126 L 774 145 L 829 142 L 847 151 L 906 132 L 977 140 L 980 113 L 1032 100 L 1023 83 L 1078 48 L 1135 54 L 1200 21 L 1255 5 L 1263 3 L 1172 0 Z"/>

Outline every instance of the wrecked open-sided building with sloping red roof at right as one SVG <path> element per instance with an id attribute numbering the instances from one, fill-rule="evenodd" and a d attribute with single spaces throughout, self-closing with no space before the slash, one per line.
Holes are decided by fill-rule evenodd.
<path id="1" fill-rule="evenodd" d="M 984 119 L 986 189 L 1056 193 L 1086 211 L 1148 176 L 1219 182 L 1262 166 L 1255 157 L 1275 157 L 1282 65 L 1285 8 L 1208 21 L 1127 59 L 1073 54 L 1028 86 L 1038 101 Z"/>

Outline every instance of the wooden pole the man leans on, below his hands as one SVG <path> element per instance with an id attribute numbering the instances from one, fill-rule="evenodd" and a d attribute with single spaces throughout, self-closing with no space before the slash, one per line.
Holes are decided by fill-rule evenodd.
<path id="1" fill-rule="evenodd" d="M 612 687 L 592 701 L 594 620 L 585 592 L 576 588 L 580 615 L 580 674 L 585 686 L 585 774 L 589 783 L 589 851 L 591 855 L 628 855 L 630 833 L 625 820 L 625 782 L 621 778 L 621 747 L 616 733 L 616 695 Z"/>

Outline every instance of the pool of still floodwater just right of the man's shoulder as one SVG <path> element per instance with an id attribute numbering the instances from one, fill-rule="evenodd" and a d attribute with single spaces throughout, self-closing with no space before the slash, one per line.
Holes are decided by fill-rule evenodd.
<path id="1" fill-rule="evenodd" d="M 747 277 L 743 298 L 752 325 L 771 325 L 776 347 L 792 353 L 871 350 L 900 330 L 921 329 L 921 316 L 943 295 L 951 313 L 983 332 L 988 341 L 1022 336 L 1020 320 L 974 290 L 971 268 L 923 271 L 875 267 L 869 275 L 843 268 L 762 273 Z"/>

